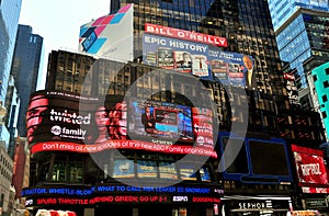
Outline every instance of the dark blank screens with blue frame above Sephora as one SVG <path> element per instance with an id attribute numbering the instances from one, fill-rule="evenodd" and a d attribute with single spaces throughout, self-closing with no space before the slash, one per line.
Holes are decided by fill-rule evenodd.
<path id="1" fill-rule="evenodd" d="M 235 161 L 223 172 L 224 180 L 236 180 L 243 183 L 263 184 L 280 184 L 293 181 L 292 171 L 288 163 L 290 160 L 287 147 L 283 139 L 261 139 L 251 137 L 242 138 L 229 132 L 220 132 L 218 138 L 218 155 L 224 154 L 226 146 L 224 139 L 229 139 L 230 145 L 240 145 L 241 143 L 243 143 L 240 152 L 238 154 Z M 238 143 L 231 143 L 235 140 Z M 276 152 L 273 151 L 273 147 L 276 148 Z M 234 150 L 236 150 L 236 148 Z M 262 152 L 260 152 L 259 150 L 261 150 Z M 271 152 L 271 155 L 264 154 L 266 151 Z M 231 154 L 232 152 L 225 152 L 226 157 L 229 157 L 229 155 Z M 280 157 L 280 159 L 272 160 L 273 157 Z M 259 162 L 258 160 L 262 160 L 261 167 L 256 167 L 256 164 Z M 277 172 L 276 168 L 271 170 L 271 168 L 266 167 L 266 163 L 264 163 L 265 160 L 271 160 L 271 166 L 273 164 L 273 161 L 277 161 L 280 163 L 277 163 L 276 167 L 285 166 L 285 169 L 281 172 Z M 225 161 L 223 166 L 225 166 Z M 268 166 L 270 166 L 269 161 Z"/>

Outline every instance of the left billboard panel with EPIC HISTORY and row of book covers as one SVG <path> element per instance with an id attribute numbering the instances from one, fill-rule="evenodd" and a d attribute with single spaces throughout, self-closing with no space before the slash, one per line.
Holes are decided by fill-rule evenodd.
<path id="1" fill-rule="evenodd" d="M 143 35 L 143 61 L 161 67 L 211 78 L 208 45 L 152 34 Z"/>

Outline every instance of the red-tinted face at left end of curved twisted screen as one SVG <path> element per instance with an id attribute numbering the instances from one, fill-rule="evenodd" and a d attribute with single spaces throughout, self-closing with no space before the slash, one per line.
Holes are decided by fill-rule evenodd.
<path id="1" fill-rule="evenodd" d="M 43 121 L 43 112 L 47 110 L 48 99 L 42 95 L 32 99 L 26 113 L 26 128 L 29 143 L 34 138 L 37 126 Z"/>

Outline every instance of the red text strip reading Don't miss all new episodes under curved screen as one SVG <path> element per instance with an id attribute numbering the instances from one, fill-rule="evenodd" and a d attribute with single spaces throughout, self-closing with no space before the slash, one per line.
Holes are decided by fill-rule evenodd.
<path id="1" fill-rule="evenodd" d="M 213 148 L 206 147 L 193 147 L 193 146 L 174 146 L 174 145 L 161 145 L 151 144 L 146 141 L 135 140 L 106 140 L 101 144 L 81 145 L 68 141 L 44 141 L 32 146 L 31 152 L 36 154 L 38 151 L 75 151 L 75 152 L 99 152 L 105 149 L 128 148 L 128 149 L 141 149 L 149 151 L 162 151 L 169 154 L 193 154 L 201 156 L 209 156 L 217 158 L 217 154 Z"/>

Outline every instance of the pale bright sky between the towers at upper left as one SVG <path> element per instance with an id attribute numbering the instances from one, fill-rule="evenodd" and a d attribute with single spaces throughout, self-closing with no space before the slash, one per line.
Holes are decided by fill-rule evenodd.
<path id="1" fill-rule="evenodd" d="M 110 0 L 22 0 L 19 24 L 32 26 L 44 38 L 43 89 L 48 54 L 52 50 L 77 52 L 82 24 L 110 12 Z"/>

